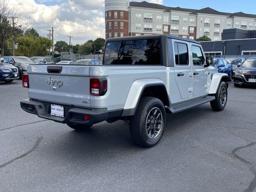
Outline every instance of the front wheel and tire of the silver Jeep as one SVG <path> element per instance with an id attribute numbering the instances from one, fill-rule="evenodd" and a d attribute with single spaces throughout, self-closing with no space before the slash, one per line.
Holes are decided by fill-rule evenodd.
<path id="1" fill-rule="evenodd" d="M 216 92 L 215 100 L 211 101 L 211 107 L 214 111 L 224 110 L 228 100 L 228 88 L 225 82 L 220 82 L 219 88 Z"/>

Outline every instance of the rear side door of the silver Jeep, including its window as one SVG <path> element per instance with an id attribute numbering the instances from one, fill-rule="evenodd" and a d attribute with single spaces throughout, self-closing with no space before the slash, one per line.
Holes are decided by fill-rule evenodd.
<path id="1" fill-rule="evenodd" d="M 191 64 L 189 62 L 188 44 L 174 42 L 174 75 L 182 99 L 188 99 L 192 95 Z"/>

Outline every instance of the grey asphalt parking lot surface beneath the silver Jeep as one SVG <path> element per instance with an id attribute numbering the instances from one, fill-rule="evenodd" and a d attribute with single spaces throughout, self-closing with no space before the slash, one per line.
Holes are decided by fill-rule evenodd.
<path id="1" fill-rule="evenodd" d="M 256 88 L 229 84 L 224 111 L 168 114 L 147 149 L 122 121 L 77 132 L 28 114 L 21 81 L 0 83 L 0 191 L 256 192 Z"/>

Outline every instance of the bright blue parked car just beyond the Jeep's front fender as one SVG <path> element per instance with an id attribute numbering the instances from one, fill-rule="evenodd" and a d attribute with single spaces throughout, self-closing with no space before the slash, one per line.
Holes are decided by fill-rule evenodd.
<path id="1" fill-rule="evenodd" d="M 233 67 L 232 65 L 223 58 L 213 58 L 214 68 L 218 69 L 220 73 L 228 74 L 228 80 L 232 81 L 233 78 Z"/>

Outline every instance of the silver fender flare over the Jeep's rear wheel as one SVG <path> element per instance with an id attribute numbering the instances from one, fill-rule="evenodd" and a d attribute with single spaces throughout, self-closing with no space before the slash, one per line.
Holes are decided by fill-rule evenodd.
<path id="1" fill-rule="evenodd" d="M 135 80 L 132 83 L 132 86 L 126 98 L 122 116 L 133 116 L 136 112 L 138 103 L 145 88 L 157 85 L 164 86 L 164 88 L 166 89 L 164 82 L 157 78 Z"/>

